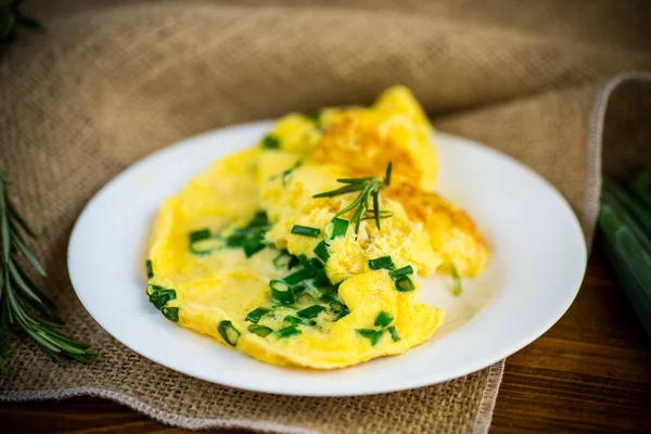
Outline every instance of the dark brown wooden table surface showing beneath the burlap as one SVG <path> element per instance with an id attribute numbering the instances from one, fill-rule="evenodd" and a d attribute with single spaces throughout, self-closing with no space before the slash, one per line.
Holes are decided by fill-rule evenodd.
<path id="1" fill-rule="evenodd" d="M 507 359 L 492 432 L 525 431 L 651 432 L 651 339 L 599 248 L 565 316 Z M 0 432 L 184 431 L 107 400 L 74 398 L 1 406 Z"/>

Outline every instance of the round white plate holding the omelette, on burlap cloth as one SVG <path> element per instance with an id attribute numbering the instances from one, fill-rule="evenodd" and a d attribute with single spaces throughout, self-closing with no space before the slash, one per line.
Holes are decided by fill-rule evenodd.
<path id="1" fill-rule="evenodd" d="M 586 246 L 565 200 L 498 152 L 436 135 L 437 190 L 467 209 L 494 250 L 488 270 L 450 295 L 449 278 L 423 280 L 421 297 L 448 310 L 446 326 L 405 355 L 335 371 L 257 361 L 166 320 L 144 295 L 145 244 L 161 203 L 215 158 L 255 143 L 271 123 L 207 132 L 129 167 L 86 206 L 68 247 L 71 280 L 90 315 L 142 356 L 228 386 L 306 396 L 425 386 L 485 368 L 548 330 L 570 307 Z"/>

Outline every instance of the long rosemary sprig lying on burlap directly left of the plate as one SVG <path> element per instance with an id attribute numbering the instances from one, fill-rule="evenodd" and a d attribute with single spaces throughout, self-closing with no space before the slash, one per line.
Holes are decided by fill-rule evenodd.
<path id="1" fill-rule="evenodd" d="M 23 330 L 58 361 L 64 357 L 85 363 L 97 356 L 90 345 L 69 339 L 55 329 L 64 327 L 52 311 L 54 303 L 27 277 L 18 254 L 41 276 L 46 270 L 29 251 L 24 235 L 35 239 L 34 231 L 18 214 L 8 195 L 9 178 L 0 170 L 0 374 L 7 374 L 11 329 Z"/>

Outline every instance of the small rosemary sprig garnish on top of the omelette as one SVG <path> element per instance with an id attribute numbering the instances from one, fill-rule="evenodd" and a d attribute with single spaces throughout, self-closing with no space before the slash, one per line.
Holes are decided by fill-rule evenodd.
<path id="1" fill-rule="evenodd" d="M 334 218 L 340 217 L 348 212 L 355 209 L 355 214 L 350 218 L 350 221 L 355 222 L 355 233 L 359 232 L 359 226 L 362 220 L 374 219 L 378 229 L 380 227 L 380 220 L 393 216 L 393 213 L 387 209 L 380 209 L 380 191 L 388 187 L 391 183 L 391 162 L 386 166 L 386 173 L 384 179 L 375 177 L 365 178 L 341 178 L 336 181 L 346 184 L 336 190 L 327 191 L 324 193 L 315 194 L 312 197 L 333 197 L 341 194 L 354 193 L 359 191 L 359 196 L 344 209 L 340 210 L 334 215 Z M 373 207 L 371 208 L 371 199 L 373 201 Z"/>

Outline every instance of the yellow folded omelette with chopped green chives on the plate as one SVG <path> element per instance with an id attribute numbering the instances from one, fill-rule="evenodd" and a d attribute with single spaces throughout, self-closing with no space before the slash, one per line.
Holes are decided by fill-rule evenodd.
<path id="1" fill-rule="evenodd" d="M 405 353 L 445 319 L 419 302 L 417 277 L 475 277 L 490 256 L 433 191 L 437 164 L 405 87 L 370 107 L 284 116 L 163 203 L 146 295 L 168 320 L 268 363 Z"/>

